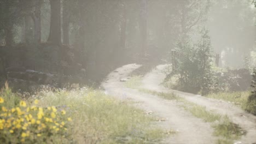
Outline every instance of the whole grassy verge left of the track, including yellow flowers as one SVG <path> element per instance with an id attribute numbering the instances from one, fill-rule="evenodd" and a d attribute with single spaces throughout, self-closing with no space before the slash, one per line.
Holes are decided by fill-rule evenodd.
<path id="1" fill-rule="evenodd" d="M 8 85 L 0 92 L 1 143 L 154 143 L 165 134 L 154 118 L 101 91 L 40 91 L 21 99 Z"/>

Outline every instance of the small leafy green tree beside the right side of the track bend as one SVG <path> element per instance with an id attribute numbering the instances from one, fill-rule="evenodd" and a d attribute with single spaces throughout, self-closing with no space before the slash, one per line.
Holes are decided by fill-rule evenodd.
<path id="1" fill-rule="evenodd" d="M 210 91 L 211 77 L 211 40 L 208 31 L 201 31 L 197 44 L 180 43 L 178 49 L 178 67 L 174 73 L 179 75 L 179 88 L 183 91 L 203 95 Z"/>

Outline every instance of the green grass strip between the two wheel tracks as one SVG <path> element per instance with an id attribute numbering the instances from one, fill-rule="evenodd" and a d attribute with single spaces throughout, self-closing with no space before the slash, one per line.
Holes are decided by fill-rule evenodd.
<path id="1" fill-rule="evenodd" d="M 232 123 L 228 116 L 219 115 L 216 112 L 206 110 L 206 107 L 191 103 L 173 93 L 160 93 L 149 91 L 147 89 L 139 89 L 139 91 L 146 92 L 153 95 L 158 95 L 161 98 L 168 100 L 177 100 L 181 102 L 181 107 L 190 112 L 193 116 L 203 119 L 205 122 L 212 123 L 215 136 L 219 137 L 217 143 L 231 144 L 234 140 L 240 139 L 245 131 L 239 125 Z"/>

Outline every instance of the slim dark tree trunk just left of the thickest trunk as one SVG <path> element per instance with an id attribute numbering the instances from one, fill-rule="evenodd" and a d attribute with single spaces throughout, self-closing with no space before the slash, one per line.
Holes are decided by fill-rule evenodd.
<path id="1" fill-rule="evenodd" d="M 42 0 L 37 0 L 34 11 L 34 41 L 36 43 L 41 42 L 41 4 Z"/>

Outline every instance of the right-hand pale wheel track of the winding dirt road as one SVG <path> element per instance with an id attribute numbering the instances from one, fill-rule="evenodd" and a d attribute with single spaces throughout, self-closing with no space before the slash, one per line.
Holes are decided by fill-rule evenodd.
<path id="1" fill-rule="evenodd" d="M 179 95 L 179 97 L 183 97 L 192 103 L 205 106 L 207 110 L 213 110 L 222 115 L 227 115 L 232 122 L 240 125 L 241 128 L 247 131 L 247 134 L 242 136 L 242 139 L 240 140 L 242 143 L 256 143 L 255 116 L 241 110 L 235 105 L 226 103 L 225 101 L 209 99 L 206 97 L 201 97 L 201 95 L 179 92 L 165 88 L 161 85 L 161 83 L 166 77 L 164 70 L 167 67 L 167 65 L 158 65 L 158 67 L 146 74 L 142 80 L 142 87 L 158 92 L 174 92 L 175 94 Z"/>

